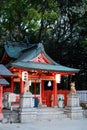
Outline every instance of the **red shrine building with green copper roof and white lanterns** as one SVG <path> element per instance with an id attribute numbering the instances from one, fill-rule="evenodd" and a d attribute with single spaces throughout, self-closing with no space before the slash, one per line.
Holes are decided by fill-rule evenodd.
<path id="1" fill-rule="evenodd" d="M 48 107 L 57 106 L 57 94 L 63 93 L 58 90 L 61 76 L 74 75 L 79 71 L 56 63 L 46 54 L 41 43 L 27 45 L 8 42 L 4 46 L 1 63 L 13 73 L 10 85 L 3 87 L 3 92 L 22 94 L 27 80 L 33 97 Z M 66 100 L 65 94 L 65 104 Z"/>

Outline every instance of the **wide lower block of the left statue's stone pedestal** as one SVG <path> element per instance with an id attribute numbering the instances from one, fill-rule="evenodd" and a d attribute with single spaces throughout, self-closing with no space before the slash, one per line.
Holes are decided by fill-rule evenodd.
<path id="1" fill-rule="evenodd" d="M 35 120 L 37 116 L 37 111 L 35 108 L 23 108 L 19 113 L 19 120 L 21 123 L 28 123 L 31 120 Z"/>

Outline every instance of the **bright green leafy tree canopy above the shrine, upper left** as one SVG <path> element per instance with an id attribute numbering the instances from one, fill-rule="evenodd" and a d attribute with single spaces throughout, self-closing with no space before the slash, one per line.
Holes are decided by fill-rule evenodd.
<path id="1" fill-rule="evenodd" d="M 20 41 L 25 35 L 36 35 L 40 42 L 44 39 L 43 33 L 53 28 L 57 17 L 56 0 L 8 0 L 3 4 L 0 23 L 7 37 Z"/>

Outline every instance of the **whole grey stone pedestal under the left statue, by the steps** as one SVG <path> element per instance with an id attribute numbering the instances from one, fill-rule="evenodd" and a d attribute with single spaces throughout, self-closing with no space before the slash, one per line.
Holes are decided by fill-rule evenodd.
<path id="1" fill-rule="evenodd" d="M 32 94 L 30 92 L 21 95 L 19 120 L 20 122 L 29 122 L 36 119 L 36 112 L 33 103 Z"/>

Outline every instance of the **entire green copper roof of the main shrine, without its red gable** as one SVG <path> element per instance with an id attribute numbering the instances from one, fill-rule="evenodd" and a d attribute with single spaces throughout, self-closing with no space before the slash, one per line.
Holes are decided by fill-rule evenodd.
<path id="1" fill-rule="evenodd" d="M 26 45 L 22 46 L 22 44 L 20 43 L 20 45 L 15 44 L 15 46 L 13 45 L 5 46 L 5 49 L 7 50 L 7 54 L 9 54 L 10 57 L 17 58 L 17 60 L 15 60 L 15 62 L 11 64 L 12 67 L 23 68 L 23 69 L 55 71 L 55 72 L 78 72 L 79 71 L 78 69 L 69 68 L 57 64 L 46 54 L 44 47 L 41 43 L 33 44 L 33 47 L 31 44 L 29 44 L 29 46 Z M 41 53 L 44 54 L 44 56 L 48 59 L 48 61 L 50 61 L 51 64 L 31 61 Z"/>

